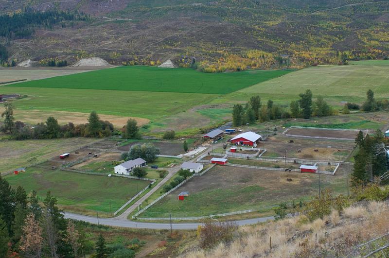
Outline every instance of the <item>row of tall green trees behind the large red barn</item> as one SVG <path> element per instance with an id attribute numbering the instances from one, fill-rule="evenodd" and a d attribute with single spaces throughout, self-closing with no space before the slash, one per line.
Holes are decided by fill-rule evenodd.
<path id="1" fill-rule="evenodd" d="M 232 110 L 233 126 L 241 126 L 248 123 L 255 123 L 257 120 L 264 122 L 268 120 L 304 118 L 309 119 L 312 116 L 324 117 L 334 114 L 332 107 L 318 96 L 316 101 L 312 101 L 312 91 L 306 90 L 299 95 L 300 99 L 291 101 L 289 110 L 281 105 L 274 104 L 268 100 L 266 104 L 261 103 L 260 96 L 252 96 L 245 107 L 236 104 Z"/>

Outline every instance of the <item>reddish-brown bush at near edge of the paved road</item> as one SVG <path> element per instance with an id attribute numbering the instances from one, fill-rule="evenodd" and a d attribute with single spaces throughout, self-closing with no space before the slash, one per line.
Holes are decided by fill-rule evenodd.
<path id="1" fill-rule="evenodd" d="M 220 242 L 231 241 L 237 228 L 234 222 L 214 223 L 209 219 L 198 228 L 199 245 L 201 248 L 211 248 Z"/>

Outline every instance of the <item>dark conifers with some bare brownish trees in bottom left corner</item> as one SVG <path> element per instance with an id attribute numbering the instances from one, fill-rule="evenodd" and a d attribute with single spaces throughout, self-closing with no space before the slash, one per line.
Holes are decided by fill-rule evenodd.
<path id="1" fill-rule="evenodd" d="M 101 234 L 95 242 L 84 228 L 64 218 L 50 191 L 41 201 L 35 191 L 28 197 L 25 189 L 12 189 L 0 176 L 0 257 L 133 258 L 145 244 L 139 239 L 107 244 Z"/>

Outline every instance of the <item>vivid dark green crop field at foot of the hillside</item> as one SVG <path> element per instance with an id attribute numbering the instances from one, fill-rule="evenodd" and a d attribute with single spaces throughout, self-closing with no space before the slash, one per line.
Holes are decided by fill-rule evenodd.
<path id="1" fill-rule="evenodd" d="M 17 86 L 227 94 L 289 72 L 291 70 L 203 73 L 184 68 L 160 69 L 156 67 L 133 66 L 58 76 L 19 83 Z"/>

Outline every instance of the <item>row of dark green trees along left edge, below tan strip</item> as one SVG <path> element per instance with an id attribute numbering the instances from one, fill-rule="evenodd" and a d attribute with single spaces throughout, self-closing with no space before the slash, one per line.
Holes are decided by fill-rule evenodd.
<path id="1" fill-rule="evenodd" d="M 48 117 L 46 122 L 37 123 L 34 126 L 26 125 L 21 121 L 15 121 L 14 106 L 5 103 L 5 110 L 1 114 L 4 124 L 0 131 L 9 134 L 16 140 L 25 139 L 53 139 L 71 137 L 107 137 L 111 136 L 114 128 L 109 121 L 100 120 L 99 115 L 92 111 L 88 117 L 88 123 L 74 125 L 69 122 L 59 125 L 54 117 Z"/>

